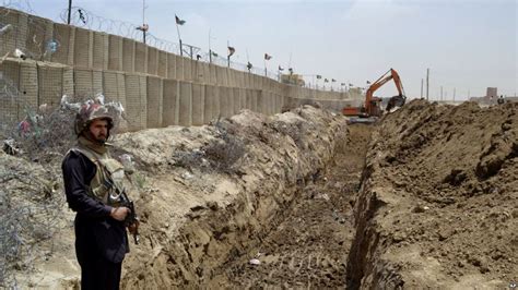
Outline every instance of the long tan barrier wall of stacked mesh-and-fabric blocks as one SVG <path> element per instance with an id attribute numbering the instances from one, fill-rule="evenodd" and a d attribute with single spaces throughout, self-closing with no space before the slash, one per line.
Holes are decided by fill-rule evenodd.
<path id="1" fill-rule="evenodd" d="M 57 106 L 62 95 L 102 93 L 127 109 L 128 129 L 199 125 L 242 109 L 266 114 L 301 104 L 340 110 L 357 106 L 348 93 L 281 84 L 266 76 L 184 58 L 142 43 L 52 23 L 0 8 L 0 122 L 19 122 L 26 109 Z M 56 50 L 48 46 L 57 44 Z M 21 49 L 26 60 L 14 58 Z"/>

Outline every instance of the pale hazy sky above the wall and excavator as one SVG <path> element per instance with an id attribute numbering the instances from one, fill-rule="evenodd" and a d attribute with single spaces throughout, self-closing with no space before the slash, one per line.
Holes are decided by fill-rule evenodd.
<path id="1" fill-rule="evenodd" d="M 67 0 L 0 0 L 60 20 Z M 73 0 L 106 20 L 142 23 L 142 0 Z M 514 96 L 518 90 L 518 1 L 516 0 L 145 0 L 150 33 L 178 43 L 175 14 L 184 44 L 225 55 L 234 61 L 269 70 L 278 65 L 295 73 L 335 78 L 364 87 L 390 68 L 397 70 L 405 94 L 429 99 L 484 96 L 486 87 Z M 322 82 L 320 81 L 320 85 Z M 455 92 L 455 93 L 454 93 Z M 397 95 L 387 83 L 380 97 Z"/>

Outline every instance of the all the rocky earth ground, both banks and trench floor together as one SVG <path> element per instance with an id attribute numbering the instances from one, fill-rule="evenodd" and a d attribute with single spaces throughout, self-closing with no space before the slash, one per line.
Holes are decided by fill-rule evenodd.
<path id="1" fill-rule="evenodd" d="M 317 107 L 117 135 L 141 218 L 121 287 L 504 289 L 518 279 L 516 104 L 414 100 L 375 125 Z M 79 288 L 63 154 L 0 152 L 2 286 Z"/>

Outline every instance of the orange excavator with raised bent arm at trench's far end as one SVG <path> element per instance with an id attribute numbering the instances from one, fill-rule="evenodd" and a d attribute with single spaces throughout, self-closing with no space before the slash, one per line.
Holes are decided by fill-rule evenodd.
<path id="1" fill-rule="evenodd" d="M 404 96 L 403 84 L 401 83 L 398 72 L 393 69 L 390 69 L 368 87 L 365 96 L 364 107 L 345 107 L 342 109 L 342 113 L 344 116 L 361 118 L 380 117 L 382 113 L 381 98 L 375 97 L 374 92 L 376 92 L 390 80 L 393 80 L 399 95 L 393 96 L 388 100 L 386 111 L 390 111 L 395 107 L 402 107 L 407 100 L 407 97 Z"/>

